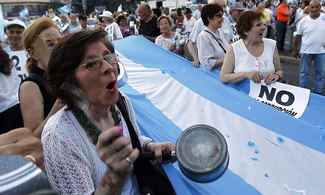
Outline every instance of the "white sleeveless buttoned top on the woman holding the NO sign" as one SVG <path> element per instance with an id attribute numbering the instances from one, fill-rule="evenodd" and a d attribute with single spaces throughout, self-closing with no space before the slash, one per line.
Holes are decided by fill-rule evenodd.
<path id="1" fill-rule="evenodd" d="M 268 73 L 274 73 L 273 54 L 276 41 L 263 38 L 264 51 L 261 56 L 255 57 L 250 54 L 241 39 L 232 44 L 235 53 L 234 73 L 258 71 L 263 77 Z"/>

